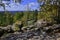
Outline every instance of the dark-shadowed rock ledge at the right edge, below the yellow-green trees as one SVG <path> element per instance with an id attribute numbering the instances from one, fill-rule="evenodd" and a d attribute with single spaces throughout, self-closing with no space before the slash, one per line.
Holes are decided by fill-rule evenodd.
<path id="1" fill-rule="evenodd" d="M 44 30 L 48 34 L 60 33 L 60 24 L 54 24 L 52 26 L 45 27 Z"/>

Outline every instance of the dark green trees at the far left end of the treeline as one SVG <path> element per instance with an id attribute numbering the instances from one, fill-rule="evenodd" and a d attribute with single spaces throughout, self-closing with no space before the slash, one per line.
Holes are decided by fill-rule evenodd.
<path id="1" fill-rule="evenodd" d="M 0 26 L 7 26 L 13 23 L 13 17 L 11 13 L 0 13 Z"/>

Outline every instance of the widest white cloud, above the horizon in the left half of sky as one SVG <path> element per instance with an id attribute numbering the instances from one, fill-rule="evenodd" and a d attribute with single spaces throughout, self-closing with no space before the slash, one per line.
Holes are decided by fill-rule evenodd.
<path id="1" fill-rule="evenodd" d="M 15 5 L 15 4 L 10 4 L 11 7 L 9 6 L 6 6 L 6 10 L 8 11 L 24 11 L 24 10 L 27 10 L 26 8 L 26 5 Z"/>

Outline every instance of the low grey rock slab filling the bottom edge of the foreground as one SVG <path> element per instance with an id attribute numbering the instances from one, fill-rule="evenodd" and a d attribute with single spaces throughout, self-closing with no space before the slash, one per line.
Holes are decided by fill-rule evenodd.
<path id="1" fill-rule="evenodd" d="M 11 33 L 6 36 L 2 36 L 1 40 L 58 40 L 60 33 L 54 35 L 47 35 L 46 33 L 40 33 L 39 31 L 29 31 L 24 33 Z"/>

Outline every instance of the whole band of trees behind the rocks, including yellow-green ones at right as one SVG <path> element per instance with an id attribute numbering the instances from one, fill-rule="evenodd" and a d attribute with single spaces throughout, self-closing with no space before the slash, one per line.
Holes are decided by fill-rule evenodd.
<path id="1" fill-rule="evenodd" d="M 56 5 L 44 5 L 43 11 L 25 11 L 25 12 L 0 12 L 0 26 L 12 25 L 21 21 L 24 26 L 34 24 L 37 20 L 45 19 L 48 22 L 60 23 L 60 15 L 57 13 Z"/>

